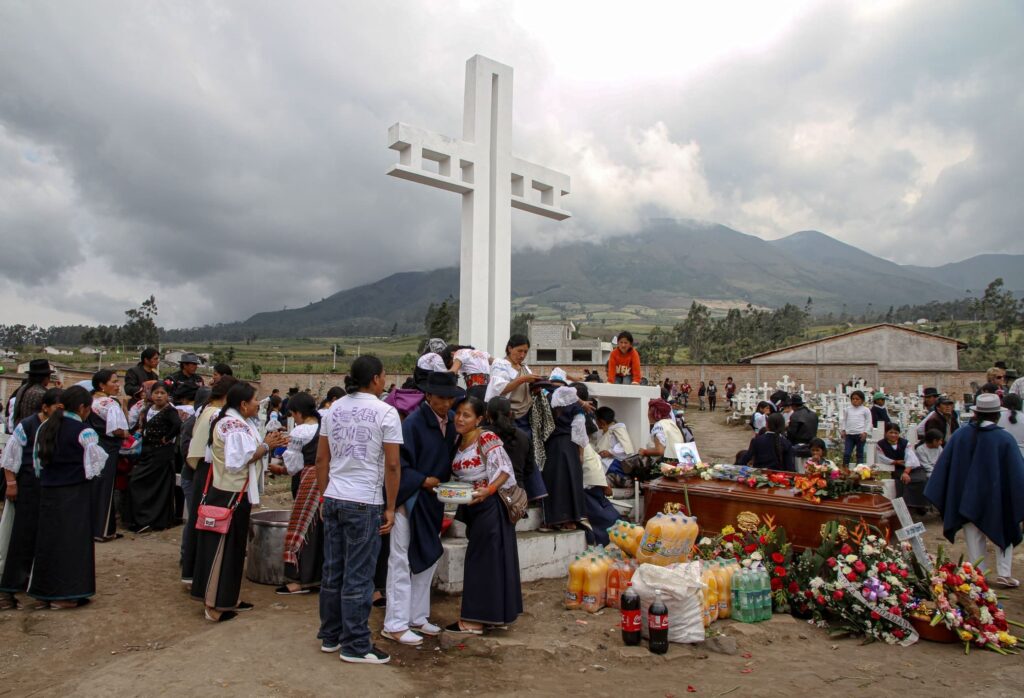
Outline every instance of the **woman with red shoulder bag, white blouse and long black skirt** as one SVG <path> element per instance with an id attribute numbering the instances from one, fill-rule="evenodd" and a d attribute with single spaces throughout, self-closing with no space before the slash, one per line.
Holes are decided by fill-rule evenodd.
<path id="1" fill-rule="evenodd" d="M 206 619 L 230 620 L 236 611 L 248 611 L 252 604 L 239 601 L 246 562 L 249 514 L 259 504 L 259 478 L 263 457 L 288 443 L 281 432 L 267 432 L 260 441 L 251 422 L 259 411 L 256 389 L 238 383 L 227 391 L 224 407 L 210 428 L 213 463 L 204 482 L 196 482 L 200 498 L 196 521 L 196 569 L 191 596 L 206 604 Z M 231 510 L 226 533 L 204 530 L 203 505 Z"/>

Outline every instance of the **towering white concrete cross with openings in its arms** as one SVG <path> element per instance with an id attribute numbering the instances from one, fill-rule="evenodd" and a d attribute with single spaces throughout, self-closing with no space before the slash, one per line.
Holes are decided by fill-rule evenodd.
<path id="1" fill-rule="evenodd" d="M 512 317 L 512 207 L 564 220 L 568 175 L 512 155 L 512 68 L 466 61 L 462 140 L 407 124 L 388 129 L 388 174 L 462 194 L 459 342 L 504 355 Z M 424 167 L 424 161 L 433 166 Z"/>

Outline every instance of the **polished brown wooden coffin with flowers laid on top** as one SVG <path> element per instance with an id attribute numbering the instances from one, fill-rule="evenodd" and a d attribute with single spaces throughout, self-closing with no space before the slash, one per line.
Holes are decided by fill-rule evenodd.
<path id="1" fill-rule="evenodd" d="M 861 492 L 813 504 L 797 496 L 793 489 L 755 489 L 727 480 L 699 478 L 658 478 L 644 483 L 645 517 L 650 519 L 658 512 L 675 511 L 676 506 L 678 511 L 686 511 L 684 486 L 688 490 L 690 514 L 709 535 L 719 533 L 724 526 L 735 526 L 736 518 L 743 512 L 757 514 L 762 521 L 765 514 L 772 517 L 776 526 L 785 528 L 790 542 L 799 549 L 817 548 L 822 524 L 837 519 L 854 524 L 863 519 L 883 532 L 899 528 L 892 503 L 881 494 Z"/>

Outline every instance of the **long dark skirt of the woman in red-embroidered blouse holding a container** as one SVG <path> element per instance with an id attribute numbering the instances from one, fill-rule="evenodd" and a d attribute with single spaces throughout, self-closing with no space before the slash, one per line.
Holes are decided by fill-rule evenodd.
<path id="1" fill-rule="evenodd" d="M 463 620 L 504 625 L 522 614 L 519 549 L 515 526 L 505 505 L 488 496 L 478 505 L 459 508 L 466 524 L 466 568 L 463 574 Z"/>

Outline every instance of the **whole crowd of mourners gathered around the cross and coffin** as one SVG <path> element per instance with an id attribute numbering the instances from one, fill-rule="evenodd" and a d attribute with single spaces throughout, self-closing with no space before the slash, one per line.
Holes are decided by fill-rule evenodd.
<path id="1" fill-rule="evenodd" d="M 319 401 L 297 389 L 261 401 L 224 364 L 207 386 L 194 354 L 162 379 L 159 355 L 146 349 L 123 384 L 101 369 L 66 389 L 51 387 L 49 364 L 34 360 L 8 405 L 12 433 L 0 460 L 4 516 L 13 514 L 0 608 L 16 608 L 18 595 L 53 609 L 88 603 L 94 546 L 122 536 L 120 518 L 137 532 L 183 521 L 181 581 L 204 617 L 224 622 L 251 610 L 241 599 L 246 542 L 268 473 L 289 478 L 293 497 L 287 582 L 276 592 L 318 592 L 324 652 L 387 662 L 369 627 L 375 607 L 385 608 L 381 637 L 402 645 L 505 627 L 522 613 L 515 523 L 527 501 L 540 505 L 541 530 L 582 528 L 591 542 L 607 543 L 606 528 L 618 518 L 611 486 L 656 475 L 694 440 L 683 417 L 692 391 L 686 381 L 666 382 L 663 398 L 650 400 L 650 434 L 636 447 L 614 410 L 590 398 L 592 374 L 580 382 L 560 369 L 539 376 L 525 362 L 528 351 L 522 335 L 497 358 L 430 340 L 400 388 L 388 387 L 381 361 L 365 355 L 345 387 Z M 609 380 L 641 382 L 628 333 L 615 352 Z M 1024 518 L 1024 420 L 1020 396 L 992 378 L 967 425 L 951 400 L 926 390 L 929 411 L 914 447 L 891 420 L 885 395 L 872 395 L 867 407 L 853 391 L 842 425 L 844 465 L 854 455 L 859 462 L 871 426 L 884 422 L 876 455 L 893 466 L 898 494 L 919 511 L 934 505 L 947 535 L 965 530 L 972 555 L 983 553 L 986 539 L 995 542 L 998 579 L 1013 586 L 1009 556 L 1020 530 L 1008 522 Z M 729 378 L 726 399 L 734 391 Z M 713 381 L 703 397 L 714 409 Z M 802 457 L 831 466 L 817 415 L 799 394 L 762 402 L 751 426 L 737 463 L 793 471 Z M 971 439 L 962 437 L 965 427 Z M 455 514 L 468 538 L 462 607 L 443 624 L 431 618 L 430 586 L 451 525 L 435 491 L 450 482 L 468 485 L 472 500 Z M 986 505 L 992 497 L 999 506 Z"/>

